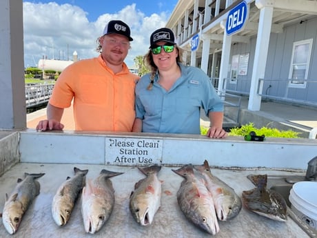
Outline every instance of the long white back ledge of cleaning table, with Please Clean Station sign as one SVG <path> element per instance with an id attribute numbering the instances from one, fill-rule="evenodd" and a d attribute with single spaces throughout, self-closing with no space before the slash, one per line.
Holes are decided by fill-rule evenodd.
<path id="1" fill-rule="evenodd" d="M 314 139 L 243 137 L 208 139 L 202 135 L 150 133 L 21 132 L 19 152 L 26 163 L 90 163 L 120 166 L 162 163 L 241 168 L 306 169 L 316 156 Z"/>

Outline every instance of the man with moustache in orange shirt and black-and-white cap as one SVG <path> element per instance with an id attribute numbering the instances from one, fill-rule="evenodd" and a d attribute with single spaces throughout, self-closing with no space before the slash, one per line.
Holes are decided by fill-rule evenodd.
<path id="1" fill-rule="evenodd" d="M 132 131 L 139 77 L 123 62 L 133 41 L 130 28 L 123 21 L 110 21 L 97 41 L 99 57 L 63 70 L 48 103 L 48 119 L 39 121 L 37 130 L 63 130 L 63 110 L 73 101 L 76 130 Z"/>

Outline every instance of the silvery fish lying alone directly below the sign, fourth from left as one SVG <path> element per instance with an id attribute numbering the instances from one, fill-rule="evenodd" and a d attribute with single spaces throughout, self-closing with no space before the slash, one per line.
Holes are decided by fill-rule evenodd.
<path id="1" fill-rule="evenodd" d="M 157 174 L 161 166 L 139 168 L 147 177 L 141 179 L 134 186 L 130 195 L 130 211 L 141 226 L 152 224 L 156 211 L 161 206 L 161 181 Z"/>

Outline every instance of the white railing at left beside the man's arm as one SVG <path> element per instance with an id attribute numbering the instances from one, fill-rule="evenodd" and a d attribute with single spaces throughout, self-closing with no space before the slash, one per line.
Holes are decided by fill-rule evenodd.
<path id="1" fill-rule="evenodd" d="M 26 108 L 33 108 L 47 103 L 52 95 L 54 83 L 37 83 L 25 85 Z"/>

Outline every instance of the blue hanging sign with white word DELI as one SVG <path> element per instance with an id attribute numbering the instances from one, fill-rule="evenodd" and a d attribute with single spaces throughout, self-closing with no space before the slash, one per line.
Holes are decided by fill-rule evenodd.
<path id="1" fill-rule="evenodd" d="M 245 26 L 247 13 L 247 3 L 245 1 L 241 1 L 241 3 L 230 10 L 225 24 L 227 34 L 234 34 Z"/>

